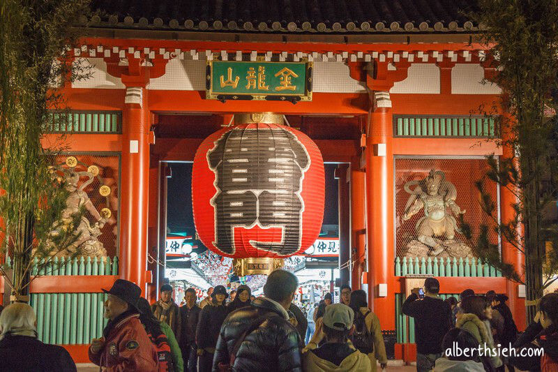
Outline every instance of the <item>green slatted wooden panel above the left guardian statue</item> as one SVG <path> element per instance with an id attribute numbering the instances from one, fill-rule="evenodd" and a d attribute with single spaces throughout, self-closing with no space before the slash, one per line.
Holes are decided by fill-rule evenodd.
<path id="1" fill-rule="evenodd" d="M 122 133 L 119 111 L 51 112 L 50 133 Z"/>

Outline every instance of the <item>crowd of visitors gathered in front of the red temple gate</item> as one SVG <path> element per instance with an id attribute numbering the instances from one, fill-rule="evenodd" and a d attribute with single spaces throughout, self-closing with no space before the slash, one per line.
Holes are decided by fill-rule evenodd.
<path id="1" fill-rule="evenodd" d="M 339 304 L 328 293 L 304 313 L 293 302 L 298 286 L 294 274 L 278 269 L 257 298 L 246 285 L 231 292 L 217 285 L 199 304 L 188 288 L 177 306 L 172 287 L 163 285 L 150 305 L 137 285 L 119 279 L 104 290 L 108 323 L 103 336 L 91 340 L 89 359 L 103 371 L 386 368 L 384 338 L 365 291 L 342 285 Z M 435 278 L 426 278 L 421 289 L 402 305 L 414 318 L 417 371 L 558 371 L 558 293 L 541 299 L 534 322 L 519 334 L 505 295 L 465 290 L 459 299 L 442 300 Z M 516 356 L 498 352 L 510 346 Z M 469 352 L 457 355 L 455 348 Z M 64 348 L 38 341 L 36 315 L 27 304 L 0 313 L 0 361 L 0 371 L 76 371 Z"/>

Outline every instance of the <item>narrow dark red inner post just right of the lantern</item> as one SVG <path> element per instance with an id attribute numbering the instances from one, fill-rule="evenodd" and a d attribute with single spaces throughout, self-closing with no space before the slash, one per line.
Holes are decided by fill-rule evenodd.
<path id="1" fill-rule="evenodd" d="M 349 184 L 347 171 L 349 165 L 340 164 L 335 170 L 338 179 L 338 216 L 339 216 L 339 278 L 341 285 L 349 284 L 351 259 L 351 216 L 349 204 Z"/>

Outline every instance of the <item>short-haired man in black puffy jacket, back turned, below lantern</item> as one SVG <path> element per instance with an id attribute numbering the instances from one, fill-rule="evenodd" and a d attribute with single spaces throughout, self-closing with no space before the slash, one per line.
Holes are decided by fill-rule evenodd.
<path id="1" fill-rule="evenodd" d="M 213 372 L 230 362 L 235 345 L 232 371 L 302 371 L 303 344 L 287 313 L 298 286 L 294 274 L 273 271 L 264 285 L 265 297 L 229 314 L 217 341 Z"/>

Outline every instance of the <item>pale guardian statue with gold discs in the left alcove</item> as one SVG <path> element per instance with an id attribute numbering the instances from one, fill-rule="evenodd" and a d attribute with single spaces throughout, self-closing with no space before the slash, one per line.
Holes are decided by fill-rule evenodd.
<path id="1" fill-rule="evenodd" d="M 68 163 L 68 161 L 66 163 Z M 79 213 L 82 208 L 84 208 L 86 212 L 89 212 L 96 220 L 95 223 L 91 224 L 89 218 L 86 216 L 87 213 L 84 213 L 81 216 L 77 228 L 74 230 L 77 239 L 70 244 L 65 251 L 61 252 L 61 254 L 71 254 L 75 253 L 75 251 L 79 251 L 80 254 L 84 256 L 105 257 L 107 251 L 98 237 L 102 234 L 100 229 L 105 226 L 105 223 L 107 223 L 112 213 L 108 208 L 103 208 L 99 213 L 93 205 L 93 202 L 91 202 L 91 199 L 89 199 L 89 195 L 84 191 L 84 188 L 91 184 L 93 178 L 98 174 L 98 168 L 92 165 L 87 171 L 82 172 L 77 172 L 73 167 L 70 169 L 59 168 L 59 170 L 64 174 L 66 190 L 68 190 L 70 194 L 68 198 L 66 198 L 66 207 L 62 211 L 62 223 L 52 227 L 51 235 L 55 237 L 60 234 L 61 230 L 67 230 L 73 221 L 73 216 Z M 89 179 L 78 186 L 81 177 L 89 177 Z M 107 188 L 108 186 L 101 186 L 99 190 L 100 194 L 107 196 L 107 192 L 110 193 L 110 188 L 108 188 L 108 191 Z"/>

